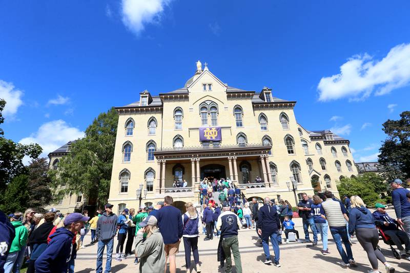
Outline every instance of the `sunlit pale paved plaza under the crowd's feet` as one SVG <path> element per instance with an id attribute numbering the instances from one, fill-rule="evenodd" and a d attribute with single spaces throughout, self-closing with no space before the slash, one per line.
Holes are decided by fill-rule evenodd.
<path id="1" fill-rule="evenodd" d="M 388 213 L 394 217 L 394 211 L 389 210 Z M 303 238 L 303 228 L 302 220 L 300 218 L 294 219 L 295 228 L 299 231 L 299 235 Z M 329 232 L 330 235 L 330 232 Z M 284 237 L 284 235 L 283 235 Z M 216 249 L 218 247 L 218 238 L 214 240 L 203 241 L 204 235 L 199 237 L 199 260 L 201 262 L 202 272 L 223 272 L 219 268 L 219 262 L 217 262 Z M 319 236 L 320 238 L 320 236 Z M 360 246 L 356 238 L 353 239 L 353 257 L 355 258 L 358 266 L 352 267 L 350 269 L 344 269 L 340 266 L 340 256 L 337 252 L 336 245 L 332 240 L 330 235 L 329 239 L 329 251 L 330 255 L 322 255 L 321 242 L 319 241 L 317 246 L 312 246 L 311 244 L 302 244 L 297 242 L 292 242 L 289 244 L 283 243 L 280 246 L 280 264 L 281 267 L 277 268 L 274 265 L 265 265 L 263 263 L 265 256 L 263 254 L 262 247 L 258 246 L 256 242 L 257 235 L 254 229 L 241 229 L 239 232 L 239 249 L 242 259 L 242 268 L 244 273 L 261 273 L 261 272 L 346 272 L 346 271 L 356 271 L 356 272 L 367 272 L 370 268 L 370 263 L 368 262 L 365 251 Z M 312 239 L 312 234 L 311 234 Z M 86 248 L 80 249 L 77 253 L 77 259 L 75 260 L 75 272 L 87 273 L 93 272 L 96 265 L 96 253 L 97 245 L 90 245 L 91 240 L 90 234 L 87 234 L 85 240 Z M 115 247 L 117 245 L 117 240 L 114 242 L 114 254 L 112 261 L 112 272 L 138 272 L 138 266 L 134 265 L 133 257 L 122 260 L 122 262 L 116 262 L 115 258 Z M 382 248 L 383 254 L 387 261 L 391 263 L 395 268 L 396 272 L 404 273 L 410 272 L 410 261 L 397 260 L 394 258 L 392 251 L 389 249 L 388 245 L 380 241 L 379 245 Z M 273 250 L 271 247 L 271 255 L 273 256 Z M 193 257 L 192 258 L 192 264 Z M 185 269 L 185 255 L 183 250 L 183 243 L 181 243 L 179 248 L 179 253 L 176 259 L 177 272 L 181 272 Z M 104 261 L 105 264 L 105 261 Z M 379 268 L 384 269 L 383 264 L 379 263 Z M 195 270 L 193 270 L 195 272 Z M 235 267 L 233 267 L 233 272 Z M 385 272 L 381 270 L 381 272 Z"/>

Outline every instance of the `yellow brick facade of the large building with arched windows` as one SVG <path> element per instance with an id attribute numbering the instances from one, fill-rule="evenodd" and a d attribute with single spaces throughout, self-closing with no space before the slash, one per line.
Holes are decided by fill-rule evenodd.
<path id="1" fill-rule="evenodd" d="M 204 85 L 206 85 L 204 87 Z M 209 90 L 211 85 L 211 90 Z M 206 90 L 204 90 L 206 89 Z M 125 107 L 116 108 L 119 113 L 118 130 L 115 143 L 115 153 L 112 169 L 109 202 L 114 207 L 138 207 L 139 199 L 136 192 L 142 185 L 141 205 L 149 205 L 163 200 L 166 195 L 174 197 L 177 204 L 183 202 L 198 203 L 199 179 L 204 172 L 225 169 L 227 177 L 232 177 L 234 183 L 242 188 L 247 198 L 269 196 L 274 199 L 289 200 L 295 204 L 294 193 L 288 189 L 286 182 L 293 176 L 291 165 L 296 164 L 299 170 L 300 183 L 296 194 L 306 192 L 314 194 L 311 178 L 316 175 L 320 184 L 317 190 L 325 188 L 325 175 L 330 177 L 330 190 L 337 195 L 336 181 L 340 176 L 357 175 L 352 154 L 348 148 L 349 141 L 342 139 L 329 131 L 310 132 L 301 127 L 296 121 L 293 108 L 295 101 L 286 101 L 272 97 L 271 90 L 264 88 L 259 92 L 245 91 L 228 87 L 215 77 L 208 68 L 198 69 L 184 88 L 151 96 L 145 91 L 140 94 L 140 101 Z M 265 93 L 269 93 L 264 96 Z M 137 98 L 136 98 L 137 99 Z M 147 105 L 145 105 L 147 100 Z M 202 103 L 216 106 L 217 126 L 221 127 L 222 140 L 219 146 L 211 145 L 202 148 L 199 141 L 201 127 L 200 106 Z M 241 110 L 242 126 L 237 126 L 234 115 L 235 108 Z M 175 111 L 182 112 L 181 129 L 175 129 Z M 209 108 L 208 108 L 209 109 Z M 267 119 L 267 130 L 261 130 L 260 114 Z M 289 129 L 283 129 L 281 116 L 289 120 Z M 149 122 L 156 123 L 155 134 L 149 134 Z M 211 113 L 207 113 L 208 124 L 211 125 Z M 132 134 L 127 135 L 127 124 L 133 123 Z M 130 132 L 129 132 L 130 133 Z M 242 134 L 247 143 L 237 144 L 237 136 Z M 284 138 L 291 136 L 294 153 L 289 154 Z M 327 135 L 327 136 L 326 136 Z M 262 139 L 267 136 L 269 143 L 263 145 Z M 183 139 L 182 148 L 174 148 L 175 137 Z M 327 137 L 327 139 L 326 139 Z M 305 154 L 302 140 L 308 144 L 309 153 Z M 154 160 L 149 160 L 147 143 L 155 144 Z M 321 146 L 322 155 L 315 149 L 316 143 Z M 125 155 L 124 147 L 130 144 L 132 151 L 130 158 Z M 337 157 L 331 152 L 334 147 Z M 344 147 L 347 153 L 342 153 Z M 129 149 L 129 148 L 128 148 Z M 270 154 L 271 153 L 271 154 Z M 313 170 L 309 170 L 306 160 L 313 162 Z M 326 162 L 326 170 L 321 169 L 319 160 Z M 340 172 L 336 169 L 335 161 L 341 165 Z M 351 163 L 352 170 L 348 171 L 346 160 Z M 249 164 L 249 177 L 254 181 L 256 176 L 264 180 L 264 187 L 247 188 L 252 184 L 242 184 L 241 164 Z M 178 188 L 185 192 L 175 192 L 172 189 L 175 173 L 173 169 L 180 164 L 183 167 L 183 177 L 188 181 L 187 188 Z M 214 164 L 207 169 L 206 165 Z M 215 164 L 220 165 L 216 166 Z M 276 183 L 272 178 L 270 166 L 277 169 Z M 212 169 L 213 168 L 213 169 Z M 147 187 L 147 173 L 155 174 L 152 191 Z M 150 173 L 150 174 L 152 174 Z M 122 174 L 122 175 L 121 175 Z M 206 173 L 208 174 L 208 173 Z M 121 176 L 128 176 L 128 188 L 122 188 Z M 150 180 L 150 178 L 148 178 Z M 292 189 L 292 186 L 290 186 Z M 147 190 L 145 196 L 144 190 Z M 173 192 L 174 191 L 174 192 Z M 179 206 L 178 205 L 178 206 Z"/>

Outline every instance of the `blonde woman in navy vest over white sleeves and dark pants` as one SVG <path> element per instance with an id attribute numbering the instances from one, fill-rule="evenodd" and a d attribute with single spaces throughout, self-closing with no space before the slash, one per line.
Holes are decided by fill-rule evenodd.
<path id="1" fill-rule="evenodd" d="M 199 230 L 202 226 L 199 220 L 198 212 L 191 202 L 185 204 L 187 212 L 182 215 L 183 231 L 183 248 L 185 249 L 185 263 L 187 272 L 191 268 L 191 250 L 194 255 L 194 261 L 196 265 L 196 272 L 201 271 L 199 266 L 199 253 L 198 253 L 198 236 Z"/>

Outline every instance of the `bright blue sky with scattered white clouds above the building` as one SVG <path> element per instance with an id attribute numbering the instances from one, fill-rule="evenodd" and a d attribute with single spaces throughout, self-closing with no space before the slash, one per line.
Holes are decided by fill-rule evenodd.
<path id="1" fill-rule="evenodd" d="M 43 156 L 101 112 L 183 87 L 199 59 L 229 86 L 296 100 L 297 121 L 376 161 L 410 102 L 409 1 L 0 0 L 5 137 Z"/>

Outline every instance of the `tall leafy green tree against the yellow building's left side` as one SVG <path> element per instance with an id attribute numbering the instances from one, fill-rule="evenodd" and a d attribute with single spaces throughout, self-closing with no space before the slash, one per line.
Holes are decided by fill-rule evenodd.
<path id="1" fill-rule="evenodd" d="M 110 192 L 118 114 L 114 108 L 101 113 L 61 158 L 58 170 L 49 171 L 55 196 L 83 194 L 89 203 L 102 205 Z M 61 187 L 63 186 L 64 187 Z"/>

